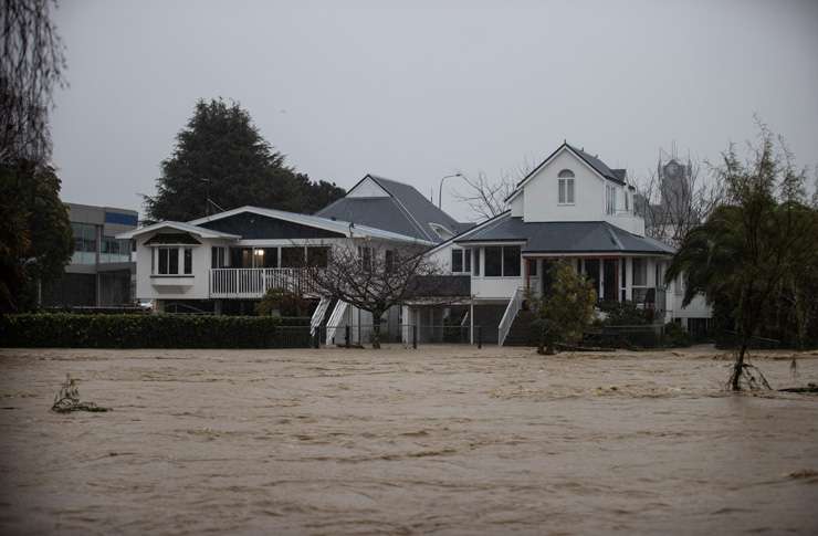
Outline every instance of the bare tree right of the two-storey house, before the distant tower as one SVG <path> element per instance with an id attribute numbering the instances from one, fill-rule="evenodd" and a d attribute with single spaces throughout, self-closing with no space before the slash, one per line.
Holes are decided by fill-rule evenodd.
<path id="1" fill-rule="evenodd" d="M 637 213 L 644 218 L 646 233 L 673 246 L 679 246 L 724 199 L 719 174 L 705 176 L 702 166 L 691 158 L 677 165 L 679 174 L 665 177 L 660 162 L 647 180 L 637 183 L 635 200 Z"/>

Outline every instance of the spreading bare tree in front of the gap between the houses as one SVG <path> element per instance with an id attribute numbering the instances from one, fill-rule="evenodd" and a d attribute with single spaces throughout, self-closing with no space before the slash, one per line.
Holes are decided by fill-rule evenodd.
<path id="1" fill-rule="evenodd" d="M 366 241 L 336 246 L 326 267 L 307 267 L 321 294 L 348 303 L 373 315 L 373 348 L 380 348 L 380 322 L 395 305 L 419 292 L 419 280 L 439 275 L 438 265 L 423 249 Z M 437 282 L 438 277 L 429 277 Z M 434 292 L 430 292 L 434 295 Z"/>

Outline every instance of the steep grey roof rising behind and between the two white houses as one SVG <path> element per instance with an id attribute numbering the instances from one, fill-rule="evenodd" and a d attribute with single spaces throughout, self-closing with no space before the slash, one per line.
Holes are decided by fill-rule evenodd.
<path id="1" fill-rule="evenodd" d="M 384 229 L 434 243 L 439 243 L 443 239 L 434 232 L 430 223 L 443 225 L 452 234 L 459 234 L 468 225 L 458 222 L 451 216 L 437 208 L 410 185 L 371 174 L 364 177 L 361 181 L 367 177 L 377 182 L 390 197 L 344 197 L 323 208 L 315 216 L 352 221 L 356 225 L 364 224 L 376 229 Z M 355 187 L 350 191 L 353 189 Z"/>

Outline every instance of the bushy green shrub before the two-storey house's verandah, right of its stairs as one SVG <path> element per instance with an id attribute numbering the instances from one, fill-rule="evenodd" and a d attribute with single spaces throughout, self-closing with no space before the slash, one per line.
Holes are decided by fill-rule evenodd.
<path id="1" fill-rule="evenodd" d="M 557 343 L 574 344 L 594 319 L 597 293 L 594 284 L 565 261 L 550 264 L 548 291 L 529 299 L 538 333 L 537 354 L 553 355 Z"/>

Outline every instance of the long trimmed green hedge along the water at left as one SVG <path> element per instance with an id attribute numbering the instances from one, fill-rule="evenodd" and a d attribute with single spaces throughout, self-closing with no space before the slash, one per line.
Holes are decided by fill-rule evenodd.
<path id="1" fill-rule="evenodd" d="M 20 314 L 0 316 L 0 346 L 29 348 L 306 348 L 310 318 Z"/>

